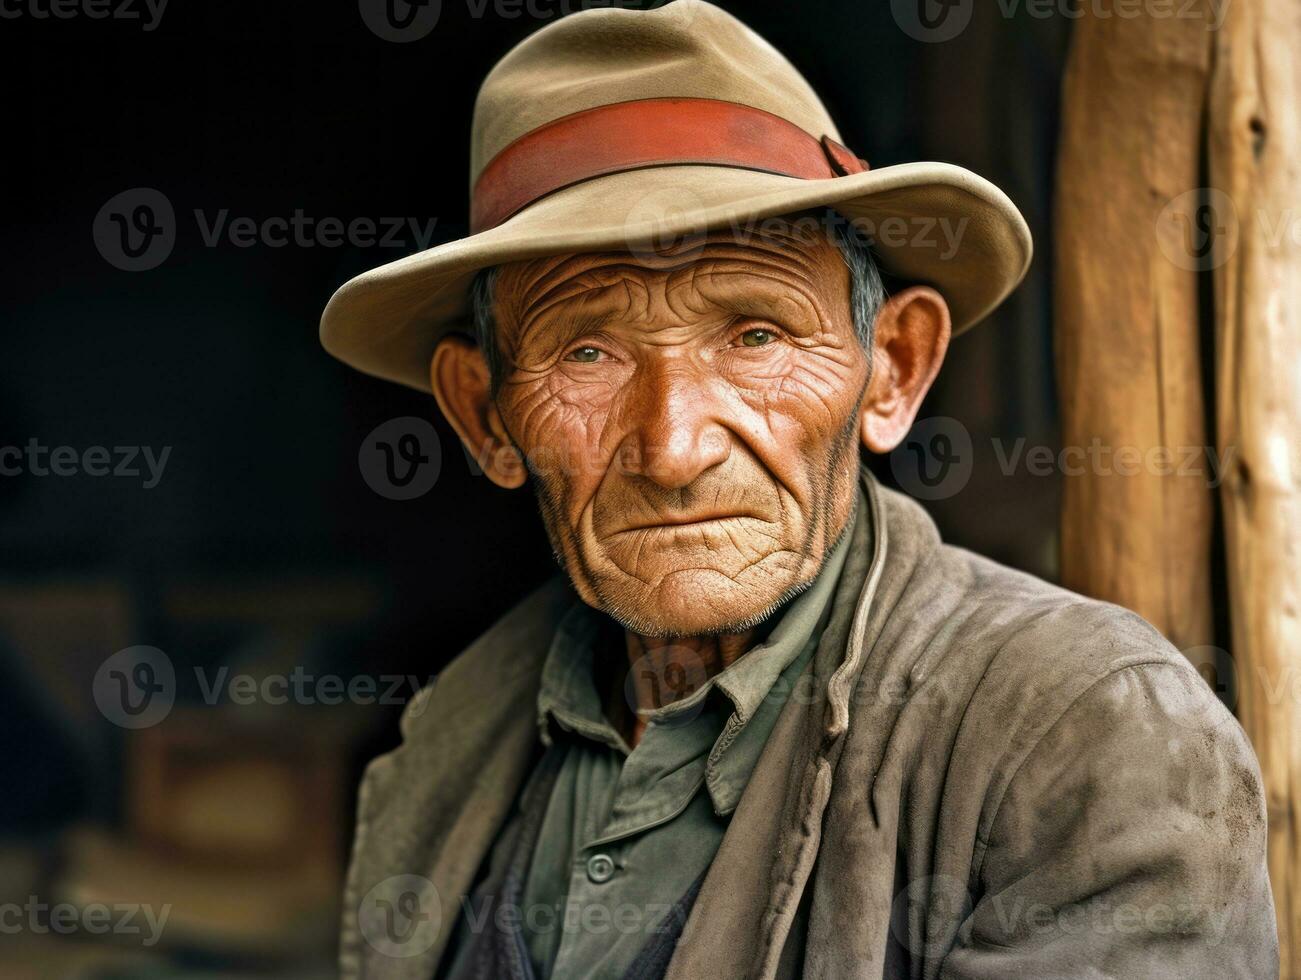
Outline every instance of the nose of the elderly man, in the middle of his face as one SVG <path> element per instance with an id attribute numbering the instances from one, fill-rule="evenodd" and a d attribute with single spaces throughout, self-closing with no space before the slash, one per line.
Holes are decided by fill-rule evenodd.
<path id="1" fill-rule="evenodd" d="M 628 431 L 619 445 L 624 472 L 665 489 L 682 489 L 731 454 L 731 433 L 718 419 L 718 393 L 708 372 L 679 363 L 643 367 L 624 406 Z"/>

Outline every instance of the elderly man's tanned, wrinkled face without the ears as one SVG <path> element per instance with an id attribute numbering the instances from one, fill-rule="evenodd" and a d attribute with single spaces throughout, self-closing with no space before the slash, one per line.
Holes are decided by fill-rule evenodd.
<path id="1" fill-rule="evenodd" d="M 745 629 L 844 528 L 869 359 L 821 233 L 506 265 L 496 406 L 575 588 L 647 635 Z"/>

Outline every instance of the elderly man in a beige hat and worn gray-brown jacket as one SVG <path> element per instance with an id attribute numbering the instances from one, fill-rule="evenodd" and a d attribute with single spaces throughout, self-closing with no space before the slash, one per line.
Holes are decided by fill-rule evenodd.
<path id="1" fill-rule="evenodd" d="M 1259 774 L 1197 673 L 860 466 L 1023 275 L 1007 198 L 869 170 L 697 0 L 520 44 L 472 170 L 474 234 L 321 334 L 530 483 L 565 577 L 367 772 L 345 976 L 1276 976 Z"/>

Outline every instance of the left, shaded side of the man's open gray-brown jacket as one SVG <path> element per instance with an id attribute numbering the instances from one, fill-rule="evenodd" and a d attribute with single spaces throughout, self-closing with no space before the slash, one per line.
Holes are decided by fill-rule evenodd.
<path id="1" fill-rule="evenodd" d="M 572 601 L 556 579 L 507 613 L 407 705 L 402 744 L 367 768 L 343 894 L 345 980 L 433 976 L 535 757 L 541 665 Z M 385 932 L 412 895 L 414 916 Z"/>

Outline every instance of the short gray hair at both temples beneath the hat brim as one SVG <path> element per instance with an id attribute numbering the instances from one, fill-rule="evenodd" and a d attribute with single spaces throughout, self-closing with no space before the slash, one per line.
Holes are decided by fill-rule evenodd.
<path id="1" fill-rule="evenodd" d="M 881 269 L 866 238 L 852 223 L 846 221 L 830 208 L 822 216 L 827 238 L 840 251 L 840 258 L 850 269 L 850 312 L 853 316 L 853 332 L 863 349 L 872 353 L 873 328 L 877 314 L 885 306 L 887 293 Z M 488 362 L 488 376 L 492 393 L 497 394 L 502 379 L 501 347 L 497 345 L 497 318 L 493 315 L 493 298 L 497 292 L 500 265 L 480 269 L 470 285 L 470 307 L 475 323 L 475 340 Z"/>

